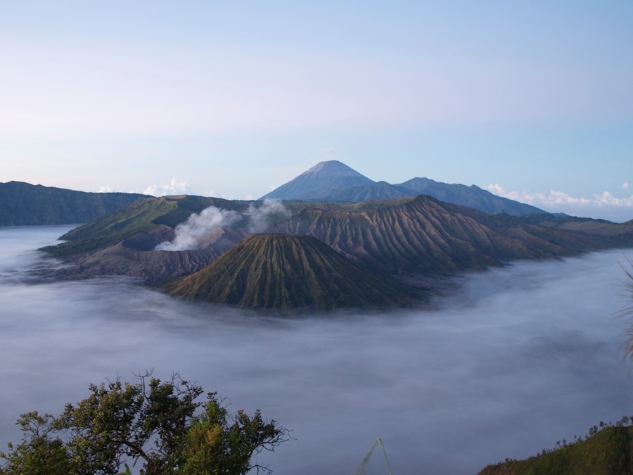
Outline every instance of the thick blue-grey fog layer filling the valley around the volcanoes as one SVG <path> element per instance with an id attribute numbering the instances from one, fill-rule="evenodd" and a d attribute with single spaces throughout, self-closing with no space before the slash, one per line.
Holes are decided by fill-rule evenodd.
<path id="1" fill-rule="evenodd" d="M 126 279 L 25 283 L 67 229 L 0 228 L 1 448 L 20 412 L 150 368 L 292 429 L 260 458 L 276 474 L 352 474 L 376 438 L 394 473 L 474 474 L 633 414 L 622 251 L 463 275 L 433 310 L 274 319 Z"/>

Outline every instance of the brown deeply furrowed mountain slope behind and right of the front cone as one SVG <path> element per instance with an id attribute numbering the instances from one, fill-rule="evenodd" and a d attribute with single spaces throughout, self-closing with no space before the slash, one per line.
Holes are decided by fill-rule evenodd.
<path id="1" fill-rule="evenodd" d="M 270 228 L 314 236 L 377 272 L 431 275 L 551 258 L 601 247 L 601 240 L 518 224 L 428 196 L 362 211 L 305 209 Z"/>

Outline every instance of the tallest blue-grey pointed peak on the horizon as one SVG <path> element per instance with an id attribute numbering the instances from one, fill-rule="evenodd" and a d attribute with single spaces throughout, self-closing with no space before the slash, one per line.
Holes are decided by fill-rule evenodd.
<path id="1" fill-rule="evenodd" d="M 319 162 L 290 182 L 279 186 L 264 198 L 280 200 L 319 201 L 326 200 L 334 191 L 372 184 L 373 180 L 338 160 Z"/>

